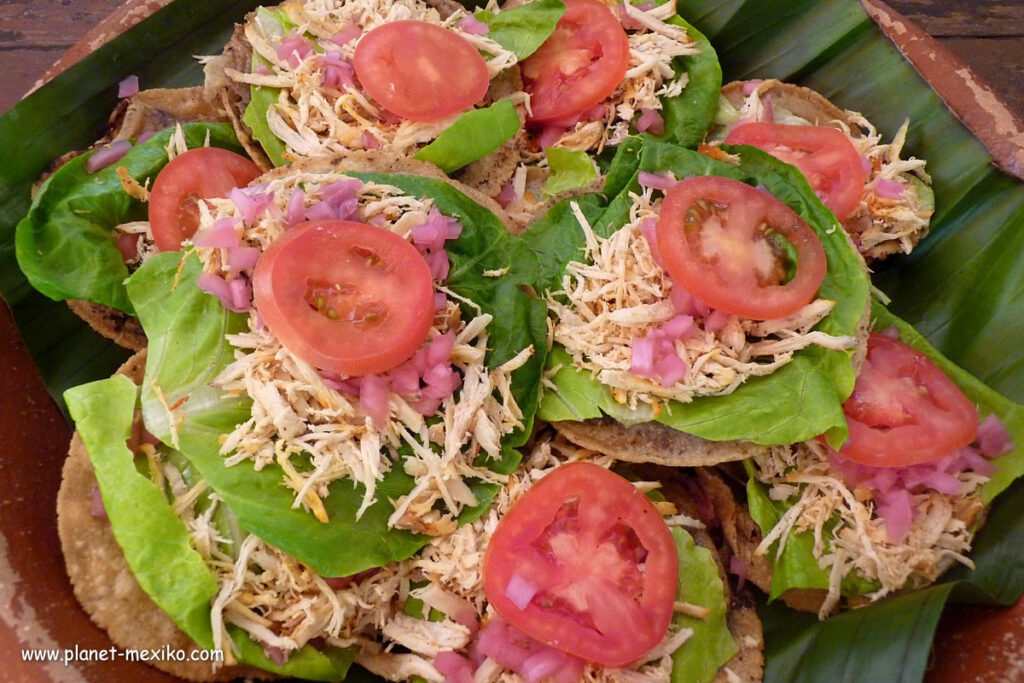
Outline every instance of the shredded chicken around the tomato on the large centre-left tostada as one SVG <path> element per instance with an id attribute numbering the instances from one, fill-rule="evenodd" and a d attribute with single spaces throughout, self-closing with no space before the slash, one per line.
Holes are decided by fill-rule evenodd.
<path id="1" fill-rule="evenodd" d="M 293 201 L 311 206 L 319 201 L 321 188 L 346 180 L 352 181 L 338 174 L 292 173 L 263 187 L 270 205 L 252 224 L 236 220 L 241 212 L 233 201 L 213 200 L 212 206 L 201 210 L 200 225 L 236 220 L 243 243 L 263 251 L 285 231 L 283 217 L 290 205 L 294 210 Z M 432 208 L 429 200 L 406 196 L 397 187 L 355 184 L 358 219 L 407 238 Z M 207 270 L 230 276 L 222 251 L 198 248 Z M 377 500 L 377 482 L 400 463 L 416 485 L 392 502 L 390 523 L 434 536 L 450 532 L 459 512 L 477 503 L 466 479 L 504 481 L 504 475 L 485 463 L 499 460 L 502 437 L 523 426 L 510 375 L 529 359 L 532 349 L 486 369 L 490 315 L 443 287 L 436 286 L 436 291 L 445 295 L 445 304 L 435 312 L 427 343 L 441 335 L 454 336 L 450 360 L 461 387 L 443 398 L 433 415 L 421 414 L 409 395 L 389 393 L 384 424 L 366 414 L 354 390 L 345 390 L 346 378 L 319 373 L 292 354 L 261 325 L 258 311 L 252 311 L 248 331 L 227 338 L 236 348 L 236 359 L 213 382 L 253 401 L 251 417 L 222 439 L 227 464 L 281 466 L 285 485 L 295 492 L 295 507 L 304 507 L 326 522 L 323 500 L 333 482 L 348 479 L 364 486 L 361 515 Z M 464 319 L 460 304 L 476 307 L 477 314 Z M 399 457 L 399 451 L 408 455 Z M 485 456 L 484 464 L 478 455 Z"/>

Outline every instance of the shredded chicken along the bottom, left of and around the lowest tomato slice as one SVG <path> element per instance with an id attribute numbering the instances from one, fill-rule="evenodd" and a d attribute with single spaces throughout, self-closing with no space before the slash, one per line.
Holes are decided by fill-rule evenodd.
<path id="1" fill-rule="evenodd" d="M 480 567 L 490 536 L 502 516 L 526 490 L 555 468 L 587 459 L 604 467 L 611 460 L 565 441 L 543 442 L 511 475 L 480 519 L 455 532 L 432 540 L 416 556 L 346 579 L 326 580 L 255 536 L 236 546 L 221 538 L 212 522 L 220 505 L 216 496 L 198 511 L 198 497 L 173 467 L 165 465 L 172 482 L 174 509 L 186 521 L 197 550 L 217 579 L 220 590 L 211 607 L 215 646 L 230 661 L 232 650 L 226 627 L 249 633 L 266 650 L 284 656 L 314 638 L 331 645 L 358 648 L 356 661 L 388 680 L 420 676 L 443 681 L 433 658 L 445 650 L 465 651 L 472 635 L 464 623 L 475 614 L 486 623 L 495 614 L 486 602 Z M 173 483 L 177 482 L 177 483 Z M 638 482 L 644 489 L 654 482 Z M 422 611 L 409 610 L 411 600 L 422 601 Z M 409 611 L 408 611 L 409 610 Z M 702 608 L 677 603 L 676 610 L 700 617 Z M 627 669 L 588 666 L 584 680 L 667 681 L 672 653 L 690 636 L 689 629 L 671 629 L 666 638 Z M 521 683 L 522 679 L 494 660 L 483 663 L 481 680 Z"/>

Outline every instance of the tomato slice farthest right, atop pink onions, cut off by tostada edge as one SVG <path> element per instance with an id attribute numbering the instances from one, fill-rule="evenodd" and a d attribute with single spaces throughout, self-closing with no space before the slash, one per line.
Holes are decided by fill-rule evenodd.
<path id="1" fill-rule="evenodd" d="M 929 463 L 978 434 L 978 411 L 959 387 L 924 353 L 880 334 L 867 340 L 843 412 L 850 438 L 840 454 L 872 467 Z"/>

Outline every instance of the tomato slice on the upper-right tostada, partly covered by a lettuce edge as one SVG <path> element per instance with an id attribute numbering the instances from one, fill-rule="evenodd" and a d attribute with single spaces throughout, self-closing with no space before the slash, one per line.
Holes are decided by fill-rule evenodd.
<path id="1" fill-rule="evenodd" d="M 746 123 L 733 128 L 725 141 L 751 144 L 799 168 L 840 222 L 860 204 L 867 172 L 860 153 L 838 128 Z"/>

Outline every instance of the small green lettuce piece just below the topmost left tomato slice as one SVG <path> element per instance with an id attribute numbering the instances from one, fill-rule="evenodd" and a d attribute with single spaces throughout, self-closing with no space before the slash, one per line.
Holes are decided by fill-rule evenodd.
<path id="1" fill-rule="evenodd" d="M 511 99 L 499 99 L 490 106 L 470 110 L 441 131 L 433 142 L 416 153 L 445 173 L 487 156 L 519 130 L 519 115 Z"/>

